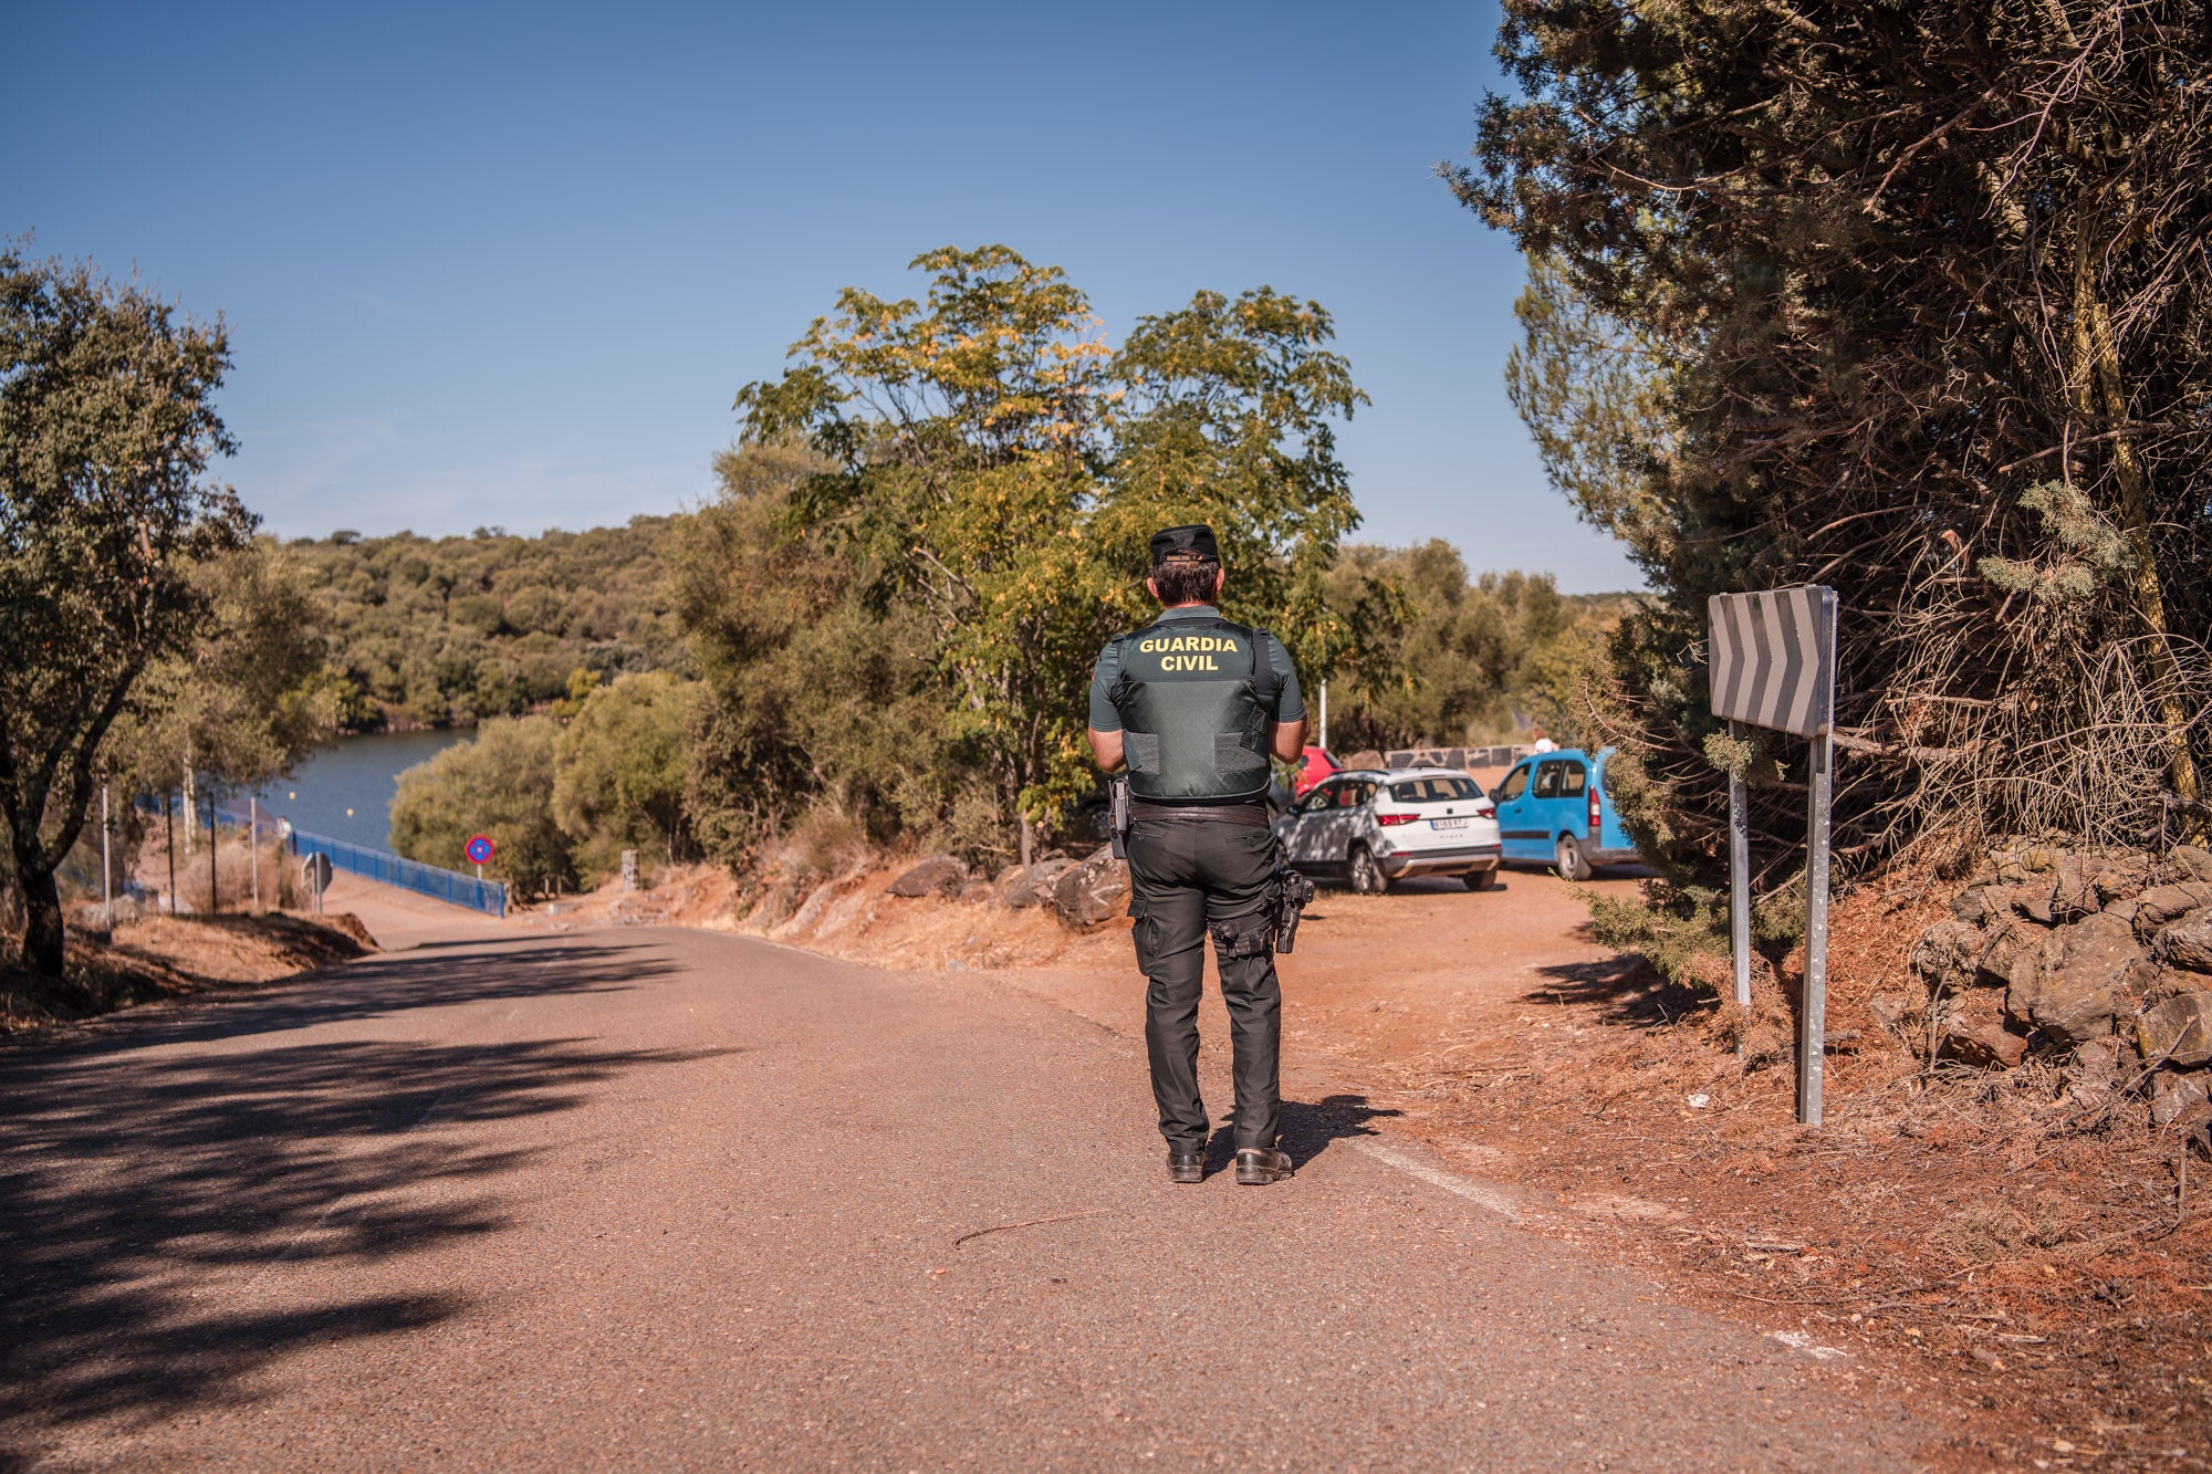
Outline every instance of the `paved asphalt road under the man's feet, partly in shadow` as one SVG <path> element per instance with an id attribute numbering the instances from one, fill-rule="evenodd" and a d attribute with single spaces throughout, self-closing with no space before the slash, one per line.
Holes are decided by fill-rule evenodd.
<path id="1" fill-rule="evenodd" d="M 0 1470 L 1854 1470 L 1929 1436 L 1407 1171 L 1356 1096 L 1287 1091 L 1294 1182 L 1168 1184 L 1139 1011 L 1135 976 L 1110 1029 L 991 974 L 595 932 L 4 1051 Z"/>

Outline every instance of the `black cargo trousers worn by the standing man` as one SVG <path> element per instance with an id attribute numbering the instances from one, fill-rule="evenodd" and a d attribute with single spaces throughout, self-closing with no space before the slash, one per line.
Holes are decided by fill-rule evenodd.
<path id="1" fill-rule="evenodd" d="M 1214 938 L 1230 1009 L 1237 1146 L 1274 1146 L 1281 1129 L 1283 987 L 1274 976 L 1274 832 L 1217 817 L 1137 819 L 1128 830 L 1130 916 L 1144 996 L 1152 1100 L 1170 1151 L 1203 1151 L 1199 989 Z"/>

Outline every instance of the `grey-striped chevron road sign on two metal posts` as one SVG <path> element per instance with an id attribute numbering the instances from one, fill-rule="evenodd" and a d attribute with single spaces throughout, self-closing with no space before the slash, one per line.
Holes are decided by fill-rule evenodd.
<path id="1" fill-rule="evenodd" d="M 1827 1056 L 1827 801 L 1836 766 L 1836 591 L 1820 584 L 1714 593 L 1712 715 L 1805 737 L 1805 998 L 1798 1007 L 1798 1120 L 1820 1124 Z M 1728 932 L 1736 1003 L 1752 1007 L 1752 834 L 1743 775 L 1728 775 Z"/>

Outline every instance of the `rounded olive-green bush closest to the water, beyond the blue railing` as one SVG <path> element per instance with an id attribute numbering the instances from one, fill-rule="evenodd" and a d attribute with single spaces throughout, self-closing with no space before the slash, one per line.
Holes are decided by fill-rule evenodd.
<path id="1" fill-rule="evenodd" d="M 555 744 L 551 717 L 493 717 L 476 739 L 400 772 L 392 797 L 392 848 L 407 859 L 460 870 L 471 834 L 498 845 L 487 870 L 526 894 L 575 885 L 568 837 L 553 819 Z"/>

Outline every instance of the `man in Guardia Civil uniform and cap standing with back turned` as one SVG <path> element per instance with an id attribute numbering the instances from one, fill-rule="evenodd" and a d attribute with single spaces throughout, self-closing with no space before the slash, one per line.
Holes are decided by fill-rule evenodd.
<path id="1" fill-rule="evenodd" d="M 1234 1045 L 1237 1182 L 1256 1186 L 1290 1175 L 1290 1155 L 1276 1149 L 1283 989 L 1267 759 L 1298 757 L 1305 702 L 1283 642 L 1214 609 L 1223 578 L 1210 527 L 1152 536 L 1146 589 L 1166 609 L 1099 655 L 1091 750 L 1106 772 L 1128 766 L 1130 916 L 1150 978 L 1144 1042 L 1168 1175 L 1206 1177 L 1199 983 L 1212 934 Z"/>

